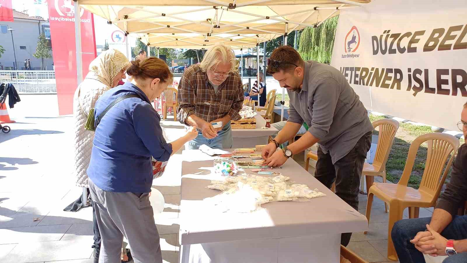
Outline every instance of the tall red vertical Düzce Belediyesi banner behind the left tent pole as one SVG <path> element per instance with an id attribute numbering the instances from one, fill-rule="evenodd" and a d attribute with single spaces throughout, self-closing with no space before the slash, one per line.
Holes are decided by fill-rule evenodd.
<path id="1" fill-rule="evenodd" d="M 49 1 L 50 38 L 57 83 L 58 114 L 73 113 L 73 95 L 78 85 L 76 69 L 75 12 L 72 0 Z M 81 50 L 83 78 L 96 58 L 92 13 L 81 9 Z"/>

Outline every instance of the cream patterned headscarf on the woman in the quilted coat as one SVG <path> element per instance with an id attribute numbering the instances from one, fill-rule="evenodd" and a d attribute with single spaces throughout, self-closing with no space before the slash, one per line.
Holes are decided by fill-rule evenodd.
<path id="1" fill-rule="evenodd" d="M 113 79 L 127 66 L 130 66 L 130 62 L 122 52 L 114 49 L 106 50 L 89 64 L 86 78 L 99 80 L 107 87 L 113 88 Z"/>

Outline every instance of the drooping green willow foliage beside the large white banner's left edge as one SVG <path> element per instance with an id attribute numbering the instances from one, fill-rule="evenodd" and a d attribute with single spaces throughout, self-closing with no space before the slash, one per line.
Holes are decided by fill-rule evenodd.
<path id="1" fill-rule="evenodd" d="M 298 53 L 304 60 L 331 63 L 339 16 L 326 19 L 317 28 L 305 28 L 300 34 Z"/>

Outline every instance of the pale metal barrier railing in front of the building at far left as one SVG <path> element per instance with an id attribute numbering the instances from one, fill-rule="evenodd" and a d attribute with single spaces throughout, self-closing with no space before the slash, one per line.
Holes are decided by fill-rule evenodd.
<path id="1" fill-rule="evenodd" d="M 0 71 L 0 83 L 10 82 L 18 93 L 57 93 L 55 71 Z"/>

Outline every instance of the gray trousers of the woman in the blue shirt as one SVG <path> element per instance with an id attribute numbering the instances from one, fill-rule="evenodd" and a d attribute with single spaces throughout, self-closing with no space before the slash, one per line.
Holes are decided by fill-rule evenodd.
<path id="1" fill-rule="evenodd" d="M 149 193 L 108 192 L 91 180 L 89 190 L 97 206 L 96 219 L 102 237 L 99 263 L 120 263 L 123 236 L 128 240 L 135 263 L 162 263 Z"/>

